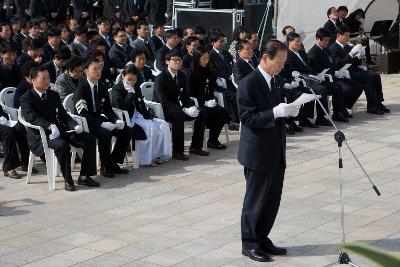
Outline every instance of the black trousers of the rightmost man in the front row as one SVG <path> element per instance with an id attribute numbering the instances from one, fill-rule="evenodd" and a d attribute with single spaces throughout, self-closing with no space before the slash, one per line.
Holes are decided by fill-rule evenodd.
<path id="1" fill-rule="evenodd" d="M 383 102 L 382 81 L 379 73 L 375 71 L 356 70 L 351 71 L 350 76 L 362 84 L 365 96 L 367 97 L 367 107 L 376 107 Z"/>

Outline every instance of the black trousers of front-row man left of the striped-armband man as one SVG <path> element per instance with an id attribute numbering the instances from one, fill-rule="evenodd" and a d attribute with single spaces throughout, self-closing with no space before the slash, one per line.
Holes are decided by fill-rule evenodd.
<path id="1" fill-rule="evenodd" d="M 58 138 L 47 140 L 50 148 L 54 149 L 56 158 L 61 166 L 64 180 L 72 183 L 71 176 L 71 147 L 83 149 L 81 160 L 81 176 L 96 175 L 96 138 L 89 133 L 62 133 Z"/>

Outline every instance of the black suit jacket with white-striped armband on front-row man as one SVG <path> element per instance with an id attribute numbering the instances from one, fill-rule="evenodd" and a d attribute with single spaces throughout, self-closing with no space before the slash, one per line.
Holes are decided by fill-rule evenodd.
<path id="1" fill-rule="evenodd" d="M 86 79 L 80 80 L 78 88 L 74 92 L 74 113 L 85 117 L 89 127 L 100 127 L 105 121 L 115 123 L 118 120 L 118 116 L 112 110 L 108 88 L 101 83 L 98 84 L 97 88 L 97 99 L 95 99 L 96 111 L 93 108 L 92 90 Z"/>

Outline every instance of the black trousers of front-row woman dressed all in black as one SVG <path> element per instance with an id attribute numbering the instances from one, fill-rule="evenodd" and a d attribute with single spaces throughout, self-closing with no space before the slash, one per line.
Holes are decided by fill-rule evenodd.
<path id="1" fill-rule="evenodd" d="M 210 143 L 218 143 L 218 137 L 221 134 L 222 128 L 226 123 L 229 123 L 231 116 L 228 111 L 220 106 L 213 108 L 201 107 L 200 110 L 205 109 L 207 112 L 206 128 L 210 129 L 208 141 Z"/>

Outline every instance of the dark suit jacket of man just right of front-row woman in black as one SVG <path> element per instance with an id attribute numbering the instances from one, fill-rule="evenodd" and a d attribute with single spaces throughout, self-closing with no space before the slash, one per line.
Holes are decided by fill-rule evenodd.
<path id="1" fill-rule="evenodd" d="M 221 53 L 224 59 L 214 49 L 211 49 L 208 64 L 215 76 L 229 80 L 232 74 L 233 58 L 227 51 L 222 51 Z"/>

